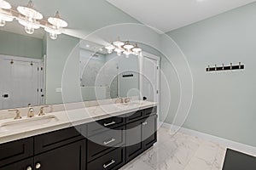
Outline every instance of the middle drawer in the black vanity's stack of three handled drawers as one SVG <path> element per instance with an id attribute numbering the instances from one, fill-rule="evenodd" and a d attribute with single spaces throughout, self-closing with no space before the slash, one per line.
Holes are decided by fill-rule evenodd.
<path id="1" fill-rule="evenodd" d="M 87 161 L 103 156 L 109 150 L 125 144 L 125 127 L 117 127 L 88 138 Z"/>

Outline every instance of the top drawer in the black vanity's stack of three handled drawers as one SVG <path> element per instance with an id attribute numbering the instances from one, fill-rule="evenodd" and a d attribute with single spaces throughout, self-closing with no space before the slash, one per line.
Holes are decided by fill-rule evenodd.
<path id="1" fill-rule="evenodd" d="M 88 124 L 88 136 L 95 135 L 96 133 L 102 133 L 108 128 L 113 129 L 125 124 L 125 118 L 122 116 L 114 116 L 107 119 L 103 119 L 96 122 L 90 122 Z"/>

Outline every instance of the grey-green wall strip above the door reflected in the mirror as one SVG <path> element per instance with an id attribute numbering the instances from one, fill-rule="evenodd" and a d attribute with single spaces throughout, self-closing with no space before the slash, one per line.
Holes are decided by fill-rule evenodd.
<path id="1" fill-rule="evenodd" d="M 41 59 L 43 57 L 43 40 L 0 31 L 0 54 Z"/>

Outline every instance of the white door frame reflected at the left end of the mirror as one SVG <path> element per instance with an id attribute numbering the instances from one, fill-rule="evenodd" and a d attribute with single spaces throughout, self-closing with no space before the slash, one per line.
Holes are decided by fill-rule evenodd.
<path id="1" fill-rule="evenodd" d="M 44 58 L 42 59 L 32 59 L 32 58 L 27 58 L 27 57 L 21 57 L 21 56 L 13 56 L 13 55 L 6 55 L 6 54 L 0 54 L 0 63 L 3 63 L 1 61 L 3 60 L 18 60 L 18 61 L 24 61 L 24 62 L 34 62 L 34 63 L 38 63 L 38 105 L 44 105 L 44 102 L 42 103 L 42 101 L 44 101 L 45 99 L 45 67 L 44 67 Z M 43 68 L 43 71 L 41 70 L 41 68 Z M 0 71 L 3 72 L 3 66 L 0 65 Z M 2 77 L 2 75 L 0 74 L 0 76 Z M 40 94 L 40 88 L 42 88 L 43 92 Z M 3 94 L 3 81 L 0 81 L 0 102 L 3 104 L 3 98 L 2 98 L 2 94 Z M 44 95 L 44 99 L 42 99 L 41 95 Z M 0 108 L 0 110 L 3 108 Z"/>

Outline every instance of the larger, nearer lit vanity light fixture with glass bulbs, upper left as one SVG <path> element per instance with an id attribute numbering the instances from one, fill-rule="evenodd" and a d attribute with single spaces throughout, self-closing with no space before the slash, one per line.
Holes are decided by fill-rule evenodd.
<path id="1" fill-rule="evenodd" d="M 0 0 L 0 26 L 5 26 L 6 21 L 14 19 L 25 27 L 26 33 L 33 34 L 36 29 L 42 27 L 51 39 L 56 39 L 62 33 L 62 28 L 67 27 L 67 22 L 61 19 L 59 12 L 44 20 L 43 14 L 34 8 L 32 0 L 26 6 L 18 6 L 16 10 L 12 9 L 8 2 Z"/>

